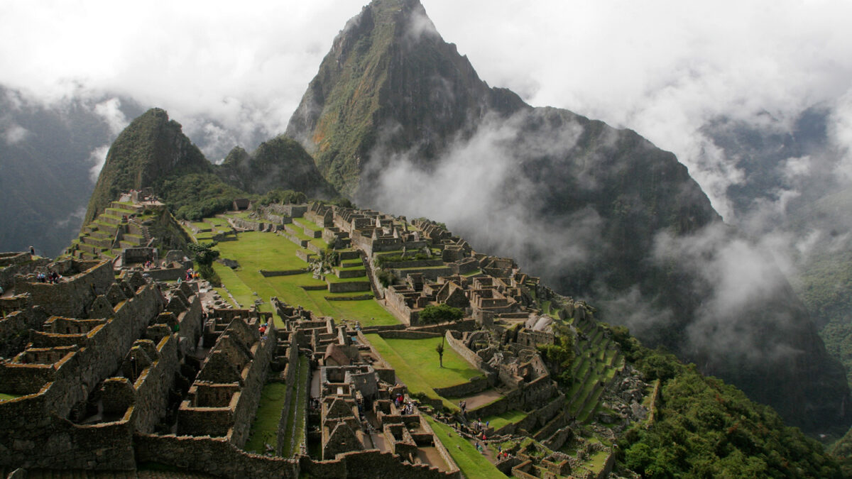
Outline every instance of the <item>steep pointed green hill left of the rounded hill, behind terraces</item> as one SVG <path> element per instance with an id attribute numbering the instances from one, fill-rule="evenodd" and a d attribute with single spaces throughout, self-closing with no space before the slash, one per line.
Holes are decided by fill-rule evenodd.
<path id="1" fill-rule="evenodd" d="M 201 150 L 183 135 L 181 124 L 170 120 L 164 110 L 152 108 L 130 122 L 112 143 L 83 219 L 90 222 L 123 191 L 156 191 L 168 176 L 212 170 Z"/>

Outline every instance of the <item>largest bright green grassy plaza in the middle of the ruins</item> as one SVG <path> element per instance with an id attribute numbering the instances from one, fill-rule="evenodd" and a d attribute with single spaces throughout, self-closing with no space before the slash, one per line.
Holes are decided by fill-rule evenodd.
<path id="1" fill-rule="evenodd" d="M 222 218 L 208 218 L 224 221 Z M 300 218 L 304 225 L 309 222 Z M 211 225 L 213 223 L 210 223 Z M 221 224 L 221 223 L 218 223 Z M 315 241 L 322 241 L 314 239 Z M 323 243 L 325 245 L 325 243 Z M 301 248 L 283 236 L 273 233 L 248 231 L 237 234 L 236 241 L 222 241 L 216 245 L 220 257 L 233 259 L 239 263 L 239 268 L 231 269 L 221 263 L 213 263 L 216 274 L 222 284 L 236 299 L 239 306 L 248 308 L 261 299 L 262 311 L 274 312 L 270 297 L 278 297 L 286 303 L 301 305 L 314 311 L 317 315 L 331 316 L 335 320 L 358 320 L 361 326 L 380 326 L 399 324 L 394 315 L 385 310 L 375 299 L 360 299 L 340 301 L 334 298 L 363 297 L 365 292 L 331 293 L 327 290 L 307 291 L 302 286 L 325 286 L 324 280 L 316 280 L 306 270 L 302 274 L 264 277 L 260 270 L 296 270 L 308 268 L 308 263 L 296 256 Z M 338 279 L 329 274 L 331 281 L 348 281 Z M 361 279 L 363 280 L 363 278 Z M 230 300 L 227 292 L 220 290 L 223 298 Z M 331 300 L 330 300 L 331 298 Z M 275 318 L 280 321 L 279 318 Z M 278 323 L 279 326 L 283 326 Z"/>

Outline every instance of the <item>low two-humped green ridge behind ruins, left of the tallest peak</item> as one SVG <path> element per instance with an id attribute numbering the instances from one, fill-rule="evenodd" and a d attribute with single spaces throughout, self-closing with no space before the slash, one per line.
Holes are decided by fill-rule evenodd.
<path id="1" fill-rule="evenodd" d="M 112 143 L 89 200 L 87 221 L 118 199 L 118 193 L 141 188 L 153 188 L 177 218 L 189 220 L 225 211 L 233 199 L 273 189 L 337 197 L 296 141 L 279 136 L 251 154 L 234 147 L 223 164 L 214 165 L 183 134 L 181 124 L 159 108 L 135 118 Z"/>

